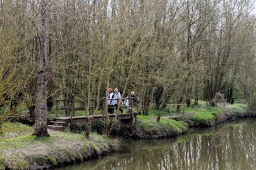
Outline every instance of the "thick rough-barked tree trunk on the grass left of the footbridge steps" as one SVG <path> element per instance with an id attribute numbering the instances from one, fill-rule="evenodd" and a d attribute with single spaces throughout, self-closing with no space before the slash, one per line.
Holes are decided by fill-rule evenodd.
<path id="1" fill-rule="evenodd" d="M 38 72 L 37 72 L 37 98 L 35 106 L 35 126 L 33 135 L 37 137 L 49 136 L 47 131 L 47 81 L 46 81 L 46 64 L 48 55 L 48 10 L 46 1 L 40 2 L 40 55 L 37 59 Z"/>

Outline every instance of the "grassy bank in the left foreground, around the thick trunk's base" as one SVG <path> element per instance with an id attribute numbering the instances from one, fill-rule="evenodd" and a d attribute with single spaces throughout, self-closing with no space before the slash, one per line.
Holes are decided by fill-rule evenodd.
<path id="1" fill-rule="evenodd" d="M 50 138 L 36 138 L 32 128 L 19 123 L 6 123 L 0 135 L 0 169 L 43 169 L 80 162 L 117 150 L 118 140 L 92 133 L 49 131 Z"/>

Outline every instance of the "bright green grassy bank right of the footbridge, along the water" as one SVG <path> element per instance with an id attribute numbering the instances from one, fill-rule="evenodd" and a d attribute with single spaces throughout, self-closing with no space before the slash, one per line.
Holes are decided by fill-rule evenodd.
<path id="1" fill-rule="evenodd" d="M 175 117 L 175 120 L 169 117 Z M 151 111 L 149 115 L 137 115 L 137 126 L 130 129 L 131 133 L 128 137 L 135 139 L 175 138 L 182 133 L 187 133 L 190 128 L 210 127 L 244 117 L 256 117 L 255 113 L 248 112 L 246 104 L 211 107 L 201 102 L 196 108 L 185 108 L 185 113 L 177 116 L 171 116 L 166 110 L 162 113 L 160 122 L 156 122 L 157 111 Z"/>

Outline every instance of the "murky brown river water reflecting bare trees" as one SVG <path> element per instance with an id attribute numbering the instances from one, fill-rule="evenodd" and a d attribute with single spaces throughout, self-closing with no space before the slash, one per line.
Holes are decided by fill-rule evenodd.
<path id="1" fill-rule="evenodd" d="M 256 169 L 256 120 L 194 130 L 175 140 L 127 141 L 119 153 L 59 169 Z"/>

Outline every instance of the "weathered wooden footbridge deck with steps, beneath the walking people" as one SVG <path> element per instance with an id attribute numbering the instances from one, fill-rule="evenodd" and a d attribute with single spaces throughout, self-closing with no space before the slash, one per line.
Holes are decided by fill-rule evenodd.
<path id="1" fill-rule="evenodd" d="M 108 114 L 110 121 L 114 120 L 117 117 L 117 114 Z M 136 113 L 123 113 L 119 114 L 119 122 L 130 124 L 136 122 Z M 92 122 L 103 122 L 107 119 L 107 115 L 89 115 L 89 116 L 75 116 L 75 117 L 55 117 L 53 121 L 49 122 L 48 128 L 62 131 L 66 129 L 71 124 L 76 123 L 85 123 L 88 118 Z"/>

